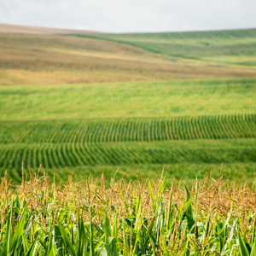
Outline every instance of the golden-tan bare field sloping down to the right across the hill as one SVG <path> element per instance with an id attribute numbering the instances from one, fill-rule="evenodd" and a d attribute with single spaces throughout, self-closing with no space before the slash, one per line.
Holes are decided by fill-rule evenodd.
<path id="1" fill-rule="evenodd" d="M 158 55 L 71 35 L 0 34 L 0 84 L 82 84 L 255 77 L 256 67 Z"/>

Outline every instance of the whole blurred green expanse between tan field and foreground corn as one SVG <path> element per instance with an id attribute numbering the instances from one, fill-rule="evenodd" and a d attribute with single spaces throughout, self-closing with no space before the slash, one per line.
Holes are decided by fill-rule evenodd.
<path id="1" fill-rule="evenodd" d="M 0 87 L 0 170 L 235 180 L 256 171 L 255 79 Z M 200 167 L 199 167 L 200 166 Z M 227 166 L 227 169 L 226 167 Z M 237 168 L 239 170 L 237 170 Z M 202 172 L 201 170 L 204 170 Z M 235 175 L 236 173 L 236 175 Z"/>

